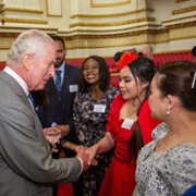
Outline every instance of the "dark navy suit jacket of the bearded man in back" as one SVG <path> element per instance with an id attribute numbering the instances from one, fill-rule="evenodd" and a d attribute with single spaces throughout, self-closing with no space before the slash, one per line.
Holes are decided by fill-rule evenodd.
<path id="1" fill-rule="evenodd" d="M 72 91 L 72 87 L 78 84 L 79 73 L 79 68 L 66 63 L 61 91 L 58 91 L 53 78 L 50 78 L 46 86 L 49 96 L 49 106 L 47 109 L 48 125 L 51 126 L 52 122 L 57 124 L 69 124 L 71 132 L 65 136 L 65 139 L 75 144 L 78 144 L 73 122 L 73 101 L 76 91 Z M 75 152 L 71 150 L 63 150 L 66 157 L 75 156 Z"/>

